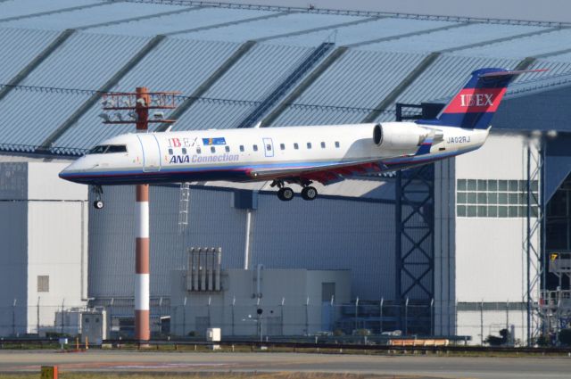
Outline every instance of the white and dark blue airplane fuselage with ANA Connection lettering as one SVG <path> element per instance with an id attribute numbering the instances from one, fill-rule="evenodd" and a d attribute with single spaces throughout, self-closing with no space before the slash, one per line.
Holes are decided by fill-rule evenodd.
<path id="1" fill-rule="evenodd" d="M 112 137 L 98 146 L 115 146 L 87 153 L 60 174 L 85 184 L 120 185 L 197 180 L 252 181 L 289 178 L 308 172 L 358 167 L 378 162 L 379 170 L 403 169 L 477 149 L 486 129 L 462 129 L 384 123 L 391 127 L 421 128 L 434 140 L 426 152 L 418 144 L 393 135 L 375 144 L 377 124 L 245 128 Z M 405 136 L 405 135 L 403 135 Z M 414 139 L 414 138 L 413 138 Z M 428 139 L 426 139 L 427 141 Z M 119 146 L 119 147 L 117 147 Z M 124 146 L 124 150 L 123 147 Z"/>

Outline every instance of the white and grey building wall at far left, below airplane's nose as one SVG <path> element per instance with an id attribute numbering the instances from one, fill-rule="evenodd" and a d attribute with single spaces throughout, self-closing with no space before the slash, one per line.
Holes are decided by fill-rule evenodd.
<path id="1" fill-rule="evenodd" d="M 0 163 L 0 335 L 53 329 L 62 305 L 85 304 L 87 186 L 60 179 L 66 165 Z"/>

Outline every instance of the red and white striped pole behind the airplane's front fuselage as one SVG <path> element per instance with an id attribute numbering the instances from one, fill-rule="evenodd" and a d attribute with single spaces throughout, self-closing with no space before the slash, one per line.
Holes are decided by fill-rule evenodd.
<path id="1" fill-rule="evenodd" d="M 150 96 L 137 87 L 137 132 L 148 130 Z M 140 101 L 142 99 L 143 101 Z M 137 235 L 135 239 L 135 339 L 148 341 L 150 329 L 149 185 L 137 185 Z"/>

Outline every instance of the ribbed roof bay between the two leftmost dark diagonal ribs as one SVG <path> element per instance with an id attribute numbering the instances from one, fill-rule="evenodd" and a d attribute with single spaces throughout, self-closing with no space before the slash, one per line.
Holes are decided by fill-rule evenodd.
<path id="1" fill-rule="evenodd" d="M 21 84 L 97 89 L 112 78 L 146 42 L 147 39 L 143 37 L 75 34 Z M 0 133 L 4 136 L 3 142 L 32 146 L 41 144 L 88 96 L 13 90 L 2 101 L 4 116 L 0 119 Z M 17 127 L 14 119 L 18 120 Z"/>

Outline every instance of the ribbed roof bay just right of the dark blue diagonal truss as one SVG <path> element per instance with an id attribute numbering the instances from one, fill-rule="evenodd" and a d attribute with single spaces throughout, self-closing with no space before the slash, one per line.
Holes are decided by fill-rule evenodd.
<path id="1" fill-rule="evenodd" d="M 351 50 L 336 61 L 295 103 L 315 107 L 291 107 L 272 126 L 319 125 L 360 122 L 372 108 L 397 87 L 424 54 L 381 53 Z M 319 105 L 325 108 L 319 109 Z M 335 110 L 329 106 L 341 107 Z M 394 114 L 391 116 L 394 119 Z"/>

